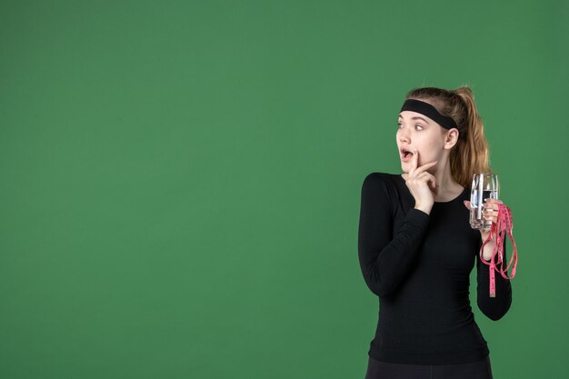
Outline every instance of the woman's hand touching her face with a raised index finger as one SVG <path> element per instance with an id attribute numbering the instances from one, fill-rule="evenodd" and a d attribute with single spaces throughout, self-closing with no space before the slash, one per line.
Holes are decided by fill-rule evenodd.
<path id="1" fill-rule="evenodd" d="M 437 164 L 438 161 L 417 167 L 419 162 L 419 152 L 414 151 L 411 160 L 411 169 L 405 178 L 405 185 L 414 197 L 414 208 L 420 209 L 425 214 L 430 214 L 434 204 L 434 193 L 436 193 L 437 185 L 434 175 L 429 174 L 426 170 Z M 431 187 L 433 187 L 431 190 Z"/>

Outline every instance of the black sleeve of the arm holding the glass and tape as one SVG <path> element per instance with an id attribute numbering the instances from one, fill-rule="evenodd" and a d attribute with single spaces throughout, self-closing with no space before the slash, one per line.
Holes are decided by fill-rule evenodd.
<path id="1" fill-rule="evenodd" d="M 507 255 L 504 235 L 504 257 L 502 266 L 507 266 Z M 482 245 L 482 242 L 480 243 Z M 479 247 L 480 248 L 480 247 Z M 498 272 L 495 273 L 496 297 L 490 297 L 490 266 L 480 260 L 480 255 L 476 258 L 477 264 L 477 286 L 476 295 L 478 308 L 491 320 L 499 320 L 510 309 L 512 304 L 512 284 L 510 280 L 504 279 Z"/>

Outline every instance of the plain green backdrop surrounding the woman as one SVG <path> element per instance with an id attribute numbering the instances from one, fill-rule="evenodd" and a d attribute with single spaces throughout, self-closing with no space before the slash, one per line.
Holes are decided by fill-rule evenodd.
<path id="1" fill-rule="evenodd" d="M 514 213 L 510 312 L 473 303 L 494 377 L 567 377 L 568 19 L 2 1 L 0 377 L 363 378 L 361 185 L 401 172 L 396 115 L 423 85 L 472 86 Z"/>

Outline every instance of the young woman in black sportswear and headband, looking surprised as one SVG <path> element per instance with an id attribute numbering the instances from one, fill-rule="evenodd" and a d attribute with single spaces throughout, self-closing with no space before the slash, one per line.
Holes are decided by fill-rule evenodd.
<path id="1" fill-rule="evenodd" d="M 474 263 L 477 304 L 490 319 L 508 311 L 512 288 L 496 274 L 489 296 L 489 266 L 479 252 L 490 229 L 469 223 L 473 175 L 491 172 L 474 95 L 468 87 L 414 89 L 398 125 L 403 174 L 372 173 L 362 185 L 359 263 L 380 308 L 365 378 L 492 378 L 469 300 Z M 498 204 L 485 204 L 486 220 L 497 222 Z M 483 259 L 494 243 L 484 246 Z"/>

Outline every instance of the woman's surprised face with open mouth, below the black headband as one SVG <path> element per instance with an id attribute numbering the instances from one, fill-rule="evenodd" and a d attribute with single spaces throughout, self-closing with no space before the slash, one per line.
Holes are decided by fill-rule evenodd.
<path id="1" fill-rule="evenodd" d="M 397 124 L 396 140 L 404 173 L 408 173 L 411 168 L 415 149 L 419 152 L 417 167 L 434 161 L 441 162 L 445 135 L 445 129 L 441 125 L 426 115 L 412 111 L 401 112 Z M 407 154 L 406 151 L 410 153 Z"/>

